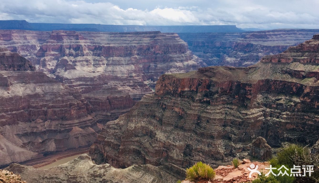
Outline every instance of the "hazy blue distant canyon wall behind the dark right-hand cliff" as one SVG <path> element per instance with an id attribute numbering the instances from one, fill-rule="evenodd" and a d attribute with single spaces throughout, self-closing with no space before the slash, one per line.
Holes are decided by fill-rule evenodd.
<path id="1" fill-rule="evenodd" d="M 189 49 L 208 66 L 247 67 L 311 39 L 318 29 L 276 29 L 256 32 L 179 33 Z"/>

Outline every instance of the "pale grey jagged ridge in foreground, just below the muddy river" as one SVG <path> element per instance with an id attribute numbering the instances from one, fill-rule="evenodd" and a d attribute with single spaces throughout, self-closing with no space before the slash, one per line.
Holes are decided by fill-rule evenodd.
<path id="1" fill-rule="evenodd" d="M 109 164 L 96 165 L 86 154 L 48 169 L 11 164 L 7 170 L 20 174 L 27 182 L 41 183 L 176 183 L 178 179 L 185 179 L 185 170 L 172 164 L 158 167 L 132 165 L 125 169 L 117 169 Z"/>

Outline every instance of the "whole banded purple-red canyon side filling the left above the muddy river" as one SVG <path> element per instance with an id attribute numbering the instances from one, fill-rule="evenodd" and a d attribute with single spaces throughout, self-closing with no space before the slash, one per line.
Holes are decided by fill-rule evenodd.
<path id="1" fill-rule="evenodd" d="M 2 30 L 0 46 L 0 166 L 88 149 L 160 74 L 203 64 L 173 33 Z"/>

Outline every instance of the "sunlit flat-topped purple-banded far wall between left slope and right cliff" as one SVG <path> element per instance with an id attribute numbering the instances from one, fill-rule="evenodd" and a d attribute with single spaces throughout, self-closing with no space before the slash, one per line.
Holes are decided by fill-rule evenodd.
<path id="1" fill-rule="evenodd" d="M 174 33 L 1 30 L 0 45 L 78 89 L 102 123 L 152 93 L 161 74 L 205 65 Z"/>

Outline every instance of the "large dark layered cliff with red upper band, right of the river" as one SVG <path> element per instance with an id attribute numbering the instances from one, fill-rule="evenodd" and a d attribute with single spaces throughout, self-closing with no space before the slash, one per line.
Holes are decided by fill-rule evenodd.
<path id="1" fill-rule="evenodd" d="M 291 62 L 266 59 L 246 68 L 163 74 L 155 94 L 145 95 L 130 112 L 106 124 L 90 153 L 115 167 L 167 162 L 188 167 L 197 161 L 214 166 L 247 157 L 256 137 L 272 147 L 281 142 L 315 144 L 318 45 L 314 36 L 291 47 L 282 57 L 290 55 Z M 298 53 L 303 57 L 295 57 Z M 294 74 L 298 72 L 302 77 Z"/>

